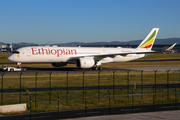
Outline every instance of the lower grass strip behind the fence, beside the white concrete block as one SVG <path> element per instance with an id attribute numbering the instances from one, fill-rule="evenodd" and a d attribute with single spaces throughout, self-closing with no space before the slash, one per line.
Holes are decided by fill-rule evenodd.
<path id="1" fill-rule="evenodd" d="M 179 89 L 177 89 L 179 91 Z M 107 90 L 100 90 L 99 101 L 98 101 L 98 91 L 97 90 L 85 90 L 87 93 L 86 107 L 87 108 L 99 108 L 99 107 L 108 107 L 109 106 L 109 93 Z M 132 105 L 132 95 L 131 90 L 130 95 L 127 96 L 127 90 L 118 90 L 115 89 L 115 97 L 111 96 L 111 106 L 126 106 Z M 134 90 L 133 103 L 134 105 L 140 104 L 152 104 L 153 103 L 153 91 L 152 89 L 144 89 L 143 98 L 141 98 L 141 89 Z M 37 93 L 37 102 L 35 107 L 35 93 L 30 92 L 32 97 L 32 112 L 49 112 L 58 110 L 58 97 L 60 97 L 60 111 L 62 110 L 74 110 L 74 109 L 84 109 L 85 103 L 83 102 L 83 94 L 81 91 L 69 91 L 68 100 L 67 91 L 52 91 L 51 92 L 51 104 L 49 101 L 50 92 L 38 92 Z M 169 98 L 167 98 L 166 89 L 157 89 L 157 94 L 155 98 L 155 103 L 167 103 L 175 102 L 175 93 L 174 89 L 170 89 Z M 113 95 L 113 90 L 110 90 L 111 95 Z M 138 95 L 139 94 L 139 95 Z M 177 94 L 177 101 L 180 101 L 180 93 Z M 4 94 L 4 104 L 13 104 L 19 103 L 19 94 Z M 21 95 L 21 102 L 28 104 L 28 111 L 23 113 L 29 113 L 30 104 L 29 96 L 25 93 Z M 15 114 L 15 113 L 14 113 Z M 17 114 L 17 113 L 16 113 Z M 22 114 L 22 113 L 21 113 Z"/>

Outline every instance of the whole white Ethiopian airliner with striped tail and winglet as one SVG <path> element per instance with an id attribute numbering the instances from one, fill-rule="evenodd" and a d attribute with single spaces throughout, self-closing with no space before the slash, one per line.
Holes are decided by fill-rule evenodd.
<path id="1" fill-rule="evenodd" d="M 151 49 L 158 31 L 153 28 L 137 48 L 32 46 L 17 49 L 7 59 L 16 63 L 51 63 L 55 67 L 74 63 L 78 68 L 98 70 L 103 63 L 127 62 L 155 53 Z"/>

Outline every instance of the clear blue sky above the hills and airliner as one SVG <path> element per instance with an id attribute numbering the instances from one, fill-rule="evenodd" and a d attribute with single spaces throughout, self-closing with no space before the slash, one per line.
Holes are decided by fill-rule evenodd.
<path id="1" fill-rule="evenodd" d="M 180 38 L 180 0 L 0 0 L 0 42 L 58 44 Z"/>

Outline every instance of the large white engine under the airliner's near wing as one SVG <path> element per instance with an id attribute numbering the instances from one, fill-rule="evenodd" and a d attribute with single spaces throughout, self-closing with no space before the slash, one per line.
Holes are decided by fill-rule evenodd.
<path id="1" fill-rule="evenodd" d="M 95 64 L 93 58 L 79 58 L 76 61 L 76 66 L 78 68 L 91 68 Z"/>

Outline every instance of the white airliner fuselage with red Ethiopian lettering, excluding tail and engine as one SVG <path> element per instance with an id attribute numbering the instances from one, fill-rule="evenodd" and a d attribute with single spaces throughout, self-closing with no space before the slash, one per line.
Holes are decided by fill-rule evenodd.
<path id="1" fill-rule="evenodd" d="M 58 63 L 67 62 L 72 58 L 78 57 L 94 57 L 94 60 L 101 60 L 102 63 L 108 62 L 126 62 L 134 59 L 142 58 L 145 54 L 127 54 L 116 55 L 113 57 L 101 57 L 101 54 L 115 54 L 115 53 L 133 53 L 147 50 L 131 49 L 131 48 L 105 48 L 105 47 L 23 47 L 8 57 L 8 60 L 17 63 Z"/>

